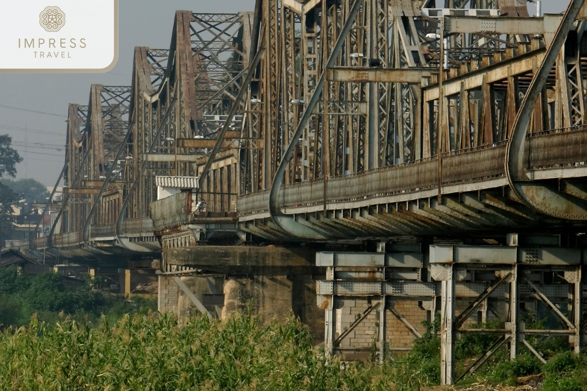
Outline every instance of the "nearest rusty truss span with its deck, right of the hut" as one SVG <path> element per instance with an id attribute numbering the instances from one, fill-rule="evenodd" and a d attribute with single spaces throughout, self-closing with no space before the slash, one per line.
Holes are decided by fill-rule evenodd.
<path id="1" fill-rule="evenodd" d="M 278 9 L 272 2 L 259 5 L 265 7 L 259 12 L 262 21 L 277 20 L 282 26 L 283 60 L 267 57 L 267 64 L 275 64 L 283 78 L 264 86 L 274 80 L 266 76 L 273 71 L 261 67 L 266 79 L 252 89 L 258 93 L 249 111 L 257 121 L 249 124 L 259 124 L 259 131 L 250 134 L 265 138 L 271 150 L 257 159 L 257 168 L 252 164 L 257 152 L 241 162 L 237 212 L 244 229 L 269 224 L 289 239 L 335 239 L 336 232 L 316 223 L 319 213 L 326 218 L 338 209 L 356 223 L 360 216 L 353 215 L 372 217 L 373 209 L 387 210 L 397 200 L 417 204 L 426 193 L 442 205 L 445 193 L 450 198 L 455 191 L 493 186 L 511 188 L 502 193 L 510 194 L 512 208 L 529 208 L 540 219 L 551 216 L 562 225 L 581 220 L 587 210 L 583 193 L 559 190 L 569 188 L 567 178 L 584 175 L 580 167 L 573 174 L 548 170 L 585 164 L 583 143 L 571 141 L 581 139 L 585 124 L 585 10 L 573 2 L 564 18 L 529 18 L 525 6 L 510 3 L 456 1 L 438 9 L 430 1 L 284 1 L 281 12 L 272 11 Z M 353 9 L 356 14 L 350 13 Z M 341 52 L 332 56 L 339 46 Z M 539 73 L 544 75 L 537 80 Z M 536 81 L 542 84 L 531 87 Z M 529 88 L 535 89 L 535 103 L 525 104 Z M 275 121 L 275 100 L 283 104 L 279 134 L 264 134 L 263 116 Z M 522 109 L 527 126 L 519 140 L 525 134 L 530 138 L 521 149 L 518 140 L 515 149 L 521 151 L 518 164 L 534 179 L 523 184 L 527 196 L 522 184 L 508 183 L 504 154 Z M 557 140 L 567 146 L 557 149 Z M 531 150 L 528 160 L 523 146 L 538 142 L 548 152 Z M 282 155 L 278 163 L 275 153 Z M 495 157 L 483 160 L 488 153 Z M 431 172 L 433 166 L 437 172 Z M 419 177 L 405 176 L 407 171 Z M 256 179 L 247 178 L 254 173 L 259 173 Z M 269 175 L 271 185 L 263 175 Z M 369 178 L 375 176 L 397 179 L 374 188 Z M 547 181 L 555 178 L 561 182 Z M 411 186 L 414 179 L 426 184 Z M 404 195 L 392 196 L 392 189 Z M 450 216 L 440 216 L 451 225 Z M 356 237 L 398 234 L 380 222 L 355 225 Z M 258 229 L 248 232 L 260 234 Z M 416 232 L 436 231 L 431 225 Z M 270 236 L 275 233 L 265 237 Z"/>

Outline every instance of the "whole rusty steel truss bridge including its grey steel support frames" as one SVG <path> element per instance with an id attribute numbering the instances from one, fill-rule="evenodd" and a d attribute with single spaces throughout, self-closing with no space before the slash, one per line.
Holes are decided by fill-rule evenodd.
<path id="1" fill-rule="evenodd" d="M 198 268 L 166 252 L 179 247 L 387 243 L 346 263 L 336 261 L 343 253 L 316 257 L 327 270 L 317 294 L 330 352 L 342 349 L 333 314 L 348 297 L 375 298 L 367 315 L 379 319 L 387 309 L 402 318 L 397 298 L 432 316 L 438 307 L 444 383 L 458 378 L 457 332 L 491 297 L 507 302 L 506 327 L 470 372 L 503 344 L 512 357 L 526 346 L 542 359 L 519 324 L 524 300 L 554 311 L 562 328 L 545 333 L 568 335 L 578 351 L 586 72 L 582 0 L 537 17 L 515 0 L 177 11 L 168 49 L 134 50 L 130 87 L 93 85 L 87 106 L 70 104 L 59 218 L 31 250 L 163 251 L 162 273 L 175 273 Z M 160 178 L 194 183 L 157 199 Z M 365 267 L 370 281 L 357 277 Z M 561 281 L 545 283 L 545 273 Z M 457 297 L 473 301 L 455 312 Z"/>

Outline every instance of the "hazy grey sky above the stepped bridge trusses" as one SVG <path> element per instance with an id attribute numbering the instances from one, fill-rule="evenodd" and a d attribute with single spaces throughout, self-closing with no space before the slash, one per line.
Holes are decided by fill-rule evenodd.
<path id="1" fill-rule="evenodd" d="M 63 148 L 68 104 L 87 104 L 92 83 L 130 86 L 133 47 L 168 49 L 176 9 L 198 13 L 238 12 L 252 11 L 254 4 L 254 0 L 120 0 L 119 60 L 112 71 L 95 74 L 0 74 L 0 134 L 11 135 L 14 148 L 25 158 L 17 167 L 16 178 L 34 178 L 46 186 L 55 184 L 65 156 Z M 544 0 L 542 10 L 562 12 L 567 4 L 568 0 Z M 528 6 L 531 14 L 534 9 L 534 5 Z"/>

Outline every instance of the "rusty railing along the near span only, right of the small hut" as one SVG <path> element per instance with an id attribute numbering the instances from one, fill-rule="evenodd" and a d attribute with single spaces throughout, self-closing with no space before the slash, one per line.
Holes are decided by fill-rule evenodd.
<path id="1" fill-rule="evenodd" d="M 503 176 L 505 150 L 504 141 L 444 155 L 443 185 Z M 587 164 L 587 128 L 573 127 L 530 134 L 526 140 L 525 153 L 527 166 L 533 169 Z M 358 174 L 333 176 L 326 183 L 326 192 L 323 179 L 282 186 L 278 195 L 280 208 L 287 210 L 323 205 L 325 202 L 351 202 L 436 188 L 438 160 L 434 157 Z M 268 212 L 268 191 L 240 196 L 237 199 L 237 210 L 241 217 Z"/>

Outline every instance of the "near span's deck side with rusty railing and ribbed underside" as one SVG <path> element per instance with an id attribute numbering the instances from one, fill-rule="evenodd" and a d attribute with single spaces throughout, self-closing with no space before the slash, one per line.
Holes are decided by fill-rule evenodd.
<path id="1" fill-rule="evenodd" d="M 526 161 L 532 178 L 545 185 L 552 182 L 549 179 L 572 181 L 587 175 L 587 129 L 584 127 L 530 134 L 525 151 L 528 151 Z M 333 221 L 339 220 L 338 225 L 363 232 L 359 234 L 363 237 L 441 234 L 455 228 L 496 230 L 504 226 L 533 226 L 542 217 L 525 212 L 527 208 L 510 192 L 504 161 L 504 144 L 444 156 L 440 204 L 437 202 L 438 160 L 431 158 L 328 178 L 326 191 L 323 180 L 282 186 L 279 207 L 286 215 L 304 220 L 303 224 L 322 232 L 323 239 L 339 236 L 336 224 L 325 226 L 330 223 L 326 222 L 330 220 L 329 215 Z M 579 191 L 569 194 L 577 200 L 586 195 Z M 483 209 L 488 210 L 483 212 Z M 237 210 L 245 230 L 255 220 L 269 219 L 269 192 L 239 197 Z M 494 213 L 497 218 L 483 216 L 486 213 Z M 323 222 L 312 223 L 308 219 Z"/>

